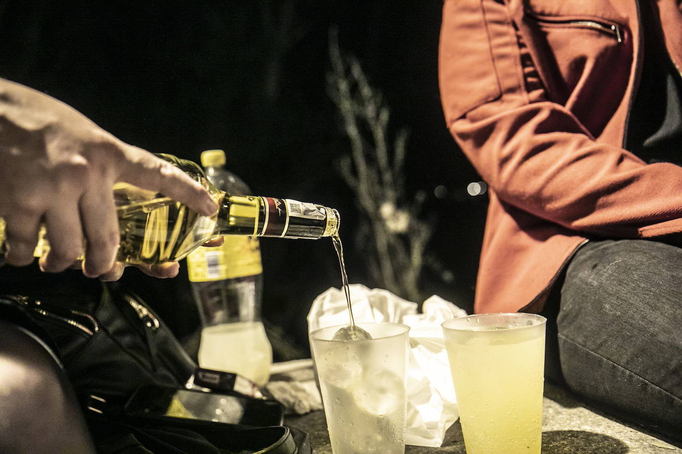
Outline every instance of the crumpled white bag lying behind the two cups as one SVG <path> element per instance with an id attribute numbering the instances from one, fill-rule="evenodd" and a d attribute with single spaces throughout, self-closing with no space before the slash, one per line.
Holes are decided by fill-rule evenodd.
<path id="1" fill-rule="evenodd" d="M 417 314 L 417 303 L 387 290 L 351 284 L 350 291 L 356 323 L 389 321 L 410 327 L 405 444 L 440 447 L 445 431 L 459 417 L 441 323 L 466 312 L 436 295 L 426 299 L 423 313 Z M 348 323 L 348 306 L 342 290 L 332 287 L 312 302 L 308 312 L 309 333 Z"/>

